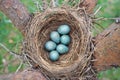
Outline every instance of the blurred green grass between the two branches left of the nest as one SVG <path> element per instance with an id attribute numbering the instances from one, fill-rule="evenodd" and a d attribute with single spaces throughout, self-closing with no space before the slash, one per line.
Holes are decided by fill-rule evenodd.
<path id="1" fill-rule="evenodd" d="M 22 41 L 21 33 L 12 25 L 11 21 L 0 13 L 0 43 L 4 44 L 11 51 L 19 52 Z M 18 66 L 12 55 L 0 47 L 0 73 L 14 72 Z M 10 68 L 13 67 L 13 68 Z"/>

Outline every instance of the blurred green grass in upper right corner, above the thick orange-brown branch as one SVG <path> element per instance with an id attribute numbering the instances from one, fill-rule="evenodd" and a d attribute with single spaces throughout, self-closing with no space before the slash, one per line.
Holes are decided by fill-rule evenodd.
<path id="1" fill-rule="evenodd" d="M 120 0 L 98 0 L 98 5 L 96 6 L 95 11 L 101 7 L 101 9 L 96 14 L 97 18 L 116 18 L 120 16 L 120 8 L 119 8 Z M 95 24 L 97 30 L 93 30 L 94 35 L 98 34 L 98 32 L 102 32 L 105 28 L 107 28 L 112 22 L 113 19 L 107 20 L 98 20 Z"/>

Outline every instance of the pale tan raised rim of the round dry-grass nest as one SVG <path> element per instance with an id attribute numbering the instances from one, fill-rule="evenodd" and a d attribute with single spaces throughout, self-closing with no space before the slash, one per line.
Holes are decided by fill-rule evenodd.
<path id="1" fill-rule="evenodd" d="M 52 14 L 51 14 L 52 13 Z M 41 31 L 39 30 L 39 29 L 42 29 L 44 26 L 42 26 L 42 27 L 39 27 L 44 21 L 46 21 L 46 17 L 48 17 L 48 15 L 49 16 L 53 16 L 53 15 L 55 15 L 55 14 L 53 14 L 53 13 L 55 13 L 55 14 L 59 14 L 59 15 L 61 15 L 61 14 L 65 14 L 65 15 L 68 15 L 68 16 L 71 16 L 71 17 L 73 17 L 74 19 L 75 19 L 75 24 L 77 24 L 77 27 L 79 27 L 79 31 L 80 31 L 80 34 L 81 34 L 81 39 L 82 40 L 80 40 L 81 41 L 81 46 L 83 46 L 84 45 L 84 48 L 82 48 L 81 50 L 83 51 L 82 53 L 81 53 L 81 55 L 78 55 L 78 59 L 77 60 L 75 60 L 74 62 L 72 62 L 72 63 L 70 63 L 70 65 L 66 65 L 66 66 L 59 66 L 59 65 L 56 65 L 56 64 L 54 64 L 54 62 L 53 62 L 53 64 L 51 64 L 51 63 L 49 63 L 50 61 L 46 61 L 41 55 L 38 55 L 39 53 L 40 53 L 40 50 L 41 49 L 39 49 L 40 47 L 39 46 L 37 46 L 38 45 L 38 43 L 39 43 L 39 37 L 40 37 L 40 33 L 41 33 Z M 45 15 L 44 15 L 45 14 Z M 42 17 L 40 17 L 42 15 Z M 47 16 L 46 16 L 47 15 Z M 40 17 L 40 18 L 39 18 Z M 64 17 L 66 17 L 66 16 L 64 16 Z M 81 66 L 85 66 L 86 64 L 84 64 L 84 63 L 82 63 L 82 61 L 84 60 L 84 56 L 86 55 L 86 51 L 85 50 L 87 50 L 87 45 L 88 45 L 88 43 L 89 43 L 89 37 L 90 37 L 90 33 L 89 33 L 89 28 L 87 28 L 87 26 L 85 25 L 85 21 L 82 19 L 82 18 L 80 18 L 80 17 L 78 17 L 78 15 L 75 13 L 75 12 L 70 12 L 70 11 L 68 11 L 68 10 L 66 10 L 66 9 L 60 9 L 60 8 L 55 8 L 55 9 L 48 9 L 48 10 L 46 10 L 46 12 L 44 12 L 44 13 L 40 13 L 40 14 L 37 14 L 35 17 L 34 17 L 34 19 L 33 19 L 33 22 L 32 23 L 35 23 L 36 22 L 36 19 L 39 19 L 38 21 L 37 21 L 37 23 L 38 24 L 34 24 L 34 25 L 32 25 L 32 26 L 37 26 L 37 27 L 39 27 L 39 28 L 33 28 L 33 27 L 31 27 L 31 31 L 28 33 L 28 34 L 31 34 L 31 32 L 34 32 L 33 34 L 31 34 L 31 35 L 29 35 L 28 36 L 28 38 L 31 38 L 33 35 L 35 35 L 35 40 L 33 41 L 33 43 L 35 43 L 34 44 L 34 47 L 36 48 L 36 52 L 37 52 L 37 54 L 36 55 L 38 55 L 38 57 L 35 57 L 34 55 L 32 55 L 32 53 L 31 54 L 29 54 L 29 55 L 32 55 L 32 56 L 34 56 L 34 59 L 36 59 L 37 58 L 37 64 L 40 66 L 40 68 L 41 69 L 43 69 L 43 71 L 47 71 L 47 72 L 50 72 L 50 73 L 52 73 L 52 74 L 56 74 L 56 75 L 58 75 L 58 74 L 66 74 L 66 73 L 69 73 L 69 72 L 71 72 L 71 71 L 74 71 L 75 69 L 77 69 L 81 64 Z M 53 18 L 54 19 L 54 18 Z M 42 21 L 40 21 L 40 20 L 42 20 Z M 68 19 L 69 20 L 69 19 Z M 39 22 L 40 21 L 40 22 Z M 51 20 L 50 20 L 51 21 Z M 49 20 L 48 20 L 48 22 L 49 22 Z M 42 25 L 44 25 L 44 24 L 42 24 Z M 71 27 L 71 26 L 70 26 Z M 34 30 L 32 30 L 32 29 L 34 29 Z M 44 29 L 44 28 L 43 28 Z M 73 29 L 74 29 L 74 27 L 73 27 Z M 83 44 L 82 44 L 83 43 Z M 71 45 L 71 44 L 70 44 Z M 43 49 L 43 48 L 42 48 Z M 68 53 L 69 54 L 69 53 Z M 35 63 L 35 64 L 36 64 Z"/>

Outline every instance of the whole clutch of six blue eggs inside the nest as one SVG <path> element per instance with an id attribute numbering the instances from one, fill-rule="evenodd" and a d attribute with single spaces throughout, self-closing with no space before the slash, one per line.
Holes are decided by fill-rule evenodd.
<path id="1" fill-rule="evenodd" d="M 50 40 L 45 43 L 45 49 L 49 51 L 49 59 L 57 61 L 60 55 L 69 51 L 70 27 L 68 25 L 60 25 L 56 31 L 50 33 Z"/>

